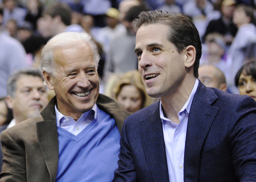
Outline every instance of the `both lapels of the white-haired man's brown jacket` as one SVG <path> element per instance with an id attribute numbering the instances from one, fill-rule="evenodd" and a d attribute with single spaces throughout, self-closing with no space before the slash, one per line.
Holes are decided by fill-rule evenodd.
<path id="1" fill-rule="evenodd" d="M 53 97 L 41 112 L 44 121 L 36 123 L 39 146 L 45 159 L 45 165 L 49 171 L 51 181 L 55 181 L 59 159 L 59 141 L 54 109 L 56 102 L 56 97 Z M 121 132 L 123 121 L 130 113 L 123 111 L 123 106 L 117 101 L 102 94 L 99 94 L 96 103 L 100 108 L 115 118 L 116 125 Z M 120 114 L 121 112 L 123 114 Z"/>

